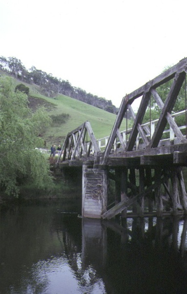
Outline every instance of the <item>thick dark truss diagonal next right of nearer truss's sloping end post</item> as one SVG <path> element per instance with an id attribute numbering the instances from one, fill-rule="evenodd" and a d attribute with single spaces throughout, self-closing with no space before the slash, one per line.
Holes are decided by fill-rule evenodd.
<path id="1" fill-rule="evenodd" d="M 148 105 L 148 102 L 150 99 L 150 95 L 151 95 L 150 92 L 146 92 L 146 93 L 144 93 L 144 95 L 142 97 L 142 100 L 141 100 L 141 103 L 140 103 L 140 106 L 138 109 L 138 113 L 136 115 L 136 118 L 135 118 L 135 121 L 134 121 L 134 124 L 132 127 L 132 131 L 130 133 L 130 137 L 129 137 L 129 140 L 127 143 L 126 151 L 132 151 L 132 149 L 134 147 L 134 144 L 135 144 L 135 141 L 136 141 L 136 138 L 138 135 L 138 131 L 140 129 L 140 125 L 142 124 L 142 121 L 143 121 L 143 118 L 145 115 L 145 111 L 146 111 L 146 108 L 147 108 L 147 105 Z M 145 137 L 144 137 L 144 139 L 145 139 Z"/>

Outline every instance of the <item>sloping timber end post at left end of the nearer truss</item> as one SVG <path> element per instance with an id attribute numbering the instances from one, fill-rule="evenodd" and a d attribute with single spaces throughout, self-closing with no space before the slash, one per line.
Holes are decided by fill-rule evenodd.
<path id="1" fill-rule="evenodd" d="M 133 99 L 131 100 L 131 103 L 133 102 Z M 107 162 L 107 159 L 108 159 L 108 155 L 110 154 L 110 151 L 112 149 L 112 145 L 114 143 L 114 140 L 116 138 L 116 134 L 117 134 L 117 130 L 119 129 L 122 121 L 123 121 L 123 118 L 124 118 L 124 115 L 125 115 L 125 112 L 127 110 L 127 104 L 128 104 L 128 95 L 126 95 L 123 99 L 122 99 L 122 103 L 120 105 L 120 109 L 119 109 L 119 112 L 118 112 L 118 115 L 117 115 L 117 118 L 116 118 L 116 121 L 113 125 L 113 128 L 112 128 L 112 132 L 110 134 L 110 137 L 109 137 L 109 140 L 108 140 L 108 143 L 106 145 L 106 148 L 104 150 L 104 159 L 103 159 L 103 162 L 102 162 L 102 165 L 105 165 L 106 162 Z"/>

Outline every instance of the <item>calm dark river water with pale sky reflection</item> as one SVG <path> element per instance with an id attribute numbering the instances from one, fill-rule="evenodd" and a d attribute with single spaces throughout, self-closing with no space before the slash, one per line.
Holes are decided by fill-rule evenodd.
<path id="1" fill-rule="evenodd" d="M 0 215 L 0 294 L 186 294 L 187 220 L 78 218 L 48 203 Z"/>

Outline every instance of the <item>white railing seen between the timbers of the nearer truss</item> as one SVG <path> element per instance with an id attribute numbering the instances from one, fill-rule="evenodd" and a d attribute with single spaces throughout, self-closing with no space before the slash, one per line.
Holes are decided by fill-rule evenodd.
<path id="1" fill-rule="evenodd" d="M 183 111 L 180 111 L 177 113 L 173 113 L 171 116 L 173 119 L 175 119 L 176 117 L 179 117 L 182 115 L 186 115 L 186 110 L 183 110 Z M 152 138 L 152 135 L 155 131 L 155 128 L 156 128 L 158 121 L 159 121 L 159 119 L 141 124 L 141 127 L 147 131 L 145 136 L 148 138 L 148 140 L 150 140 Z M 187 125 L 179 126 L 179 129 L 180 130 L 184 130 L 184 129 L 187 130 Z M 131 131 L 132 131 L 132 127 L 127 128 L 127 130 L 125 129 L 123 131 L 120 131 L 120 134 L 121 134 L 125 144 L 127 144 L 127 142 L 128 142 L 128 137 L 129 137 L 129 134 Z M 174 133 L 173 129 L 171 128 L 171 126 L 169 126 L 169 128 L 166 128 L 163 131 L 163 135 L 164 134 L 165 134 L 166 138 L 162 139 L 160 141 L 159 146 L 168 145 L 168 144 L 170 144 L 170 142 L 173 142 L 173 141 L 176 141 L 175 143 L 177 143 L 177 138 L 176 138 L 175 133 Z M 104 151 L 105 147 L 107 146 L 109 138 L 110 138 L 110 136 L 106 136 L 106 137 L 103 137 L 103 138 L 97 140 L 98 146 L 101 151 Z M 184 138 L 186 138 L 186 135 L 184 135 Z M 134 150 L 143 149 L 145 147 L 144 144 L 141 144 L 141 142 L 142 142 L 142 136 L 140 135 L 140 133 L 138 133 L 137 139 L 136 139 L 136 144 L 134 146 Z M 118 138 L 115 138 L 114 143 L 113 143 L 113 147 L 112 147 L 112 151 L 115 153 L 120 152 L 121 151 L 120 146 L 121 146 L 121 142 L 119 141 Z"/>

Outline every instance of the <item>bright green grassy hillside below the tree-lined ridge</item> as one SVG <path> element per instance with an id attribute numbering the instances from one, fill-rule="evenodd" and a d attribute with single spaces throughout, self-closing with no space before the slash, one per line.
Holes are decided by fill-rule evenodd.
<path id="1" fill-rule="evenodd" d="M 0 74 L 5 74 L 0 71 Z M 74 98 L 70 98 L 59 94 L 55 98 L 47 98 L 43 96 L 40 87 L 35 84 L 27 84 L 13 78 L 15 86 L 23 83 L 29 87 L 29 102 L 30 107 L 36 109 L 37 107 L 44 106 L 50 116 L 58 116 L 62 114 L 69 115 L 65 123 L 55 123 L 46 129 L 44 138 L 47 147 L 51 144 L 63 144 L 65 136 L 68 132 L 77 128 L 85 121 L 91 123 L 96 139 L 103 138 L 110 135 L 116 115 L 104 111 L 103 109 L 86 104 Z M 121 130 L 125 129 L 126 121 L 122 122 Z"/>

